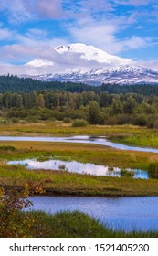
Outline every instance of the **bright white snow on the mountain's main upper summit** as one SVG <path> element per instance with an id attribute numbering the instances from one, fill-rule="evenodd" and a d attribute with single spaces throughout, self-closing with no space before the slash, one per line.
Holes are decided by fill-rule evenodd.
<path id="1" fill-rule="evenodd" d="M 85 44 L 70 44 L 67 47 L 59 46 L 55 48 L 59 54 L 63 53 L 79 53 L 81 59 L 86 59 L 88 61 L 93 60 L 99 63 L 106 64 L 130 64 L 131 59 L 123 59 L 114 55 L 110 55 L 107 52 L 95 48 L 93 46 L 87 46 Z"/>

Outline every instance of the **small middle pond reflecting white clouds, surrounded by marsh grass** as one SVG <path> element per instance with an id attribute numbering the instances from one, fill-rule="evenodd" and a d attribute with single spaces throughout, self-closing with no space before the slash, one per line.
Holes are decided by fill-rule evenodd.
<path id="1" fill-rule="evenodd" d="M 118 167 L 109 168 L 104 165 L 84 164 L 77 161 L 61 161 L 50 159 L 44 162 L 39 162 L 35 159 L 26 159 L 21 161 L 10 161 L 9 165 L 26 165 L 28 169 L 44 169 L 44 170 L 68 170 L 71 173 L 90 174 L 94 176 L 121 176 L 121 169 Z M 128 169 L 130 171 L 130 169 Z M 134 178 L 149 178 L 147 171 L 132 170 Z"/>

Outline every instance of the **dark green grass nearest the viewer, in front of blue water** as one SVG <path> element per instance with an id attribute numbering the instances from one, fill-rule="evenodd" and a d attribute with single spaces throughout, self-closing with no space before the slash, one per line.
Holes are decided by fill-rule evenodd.
<path id="1" fill-rule="evenodd" d="M 28 215 L 29 214 L 29 215 Z M 19 213 L 17 220 L 23 222 L 30 213 Z M 157 231 L 114 231 L 96 219 L 78 211 L 49 215 L 40 211 L 31 212 L 35 224 L 32 229 L 24 226 L 24 237 L 42 238 L 157 238 Z M 1 236 L 1 235 L 0 235 Z"/>

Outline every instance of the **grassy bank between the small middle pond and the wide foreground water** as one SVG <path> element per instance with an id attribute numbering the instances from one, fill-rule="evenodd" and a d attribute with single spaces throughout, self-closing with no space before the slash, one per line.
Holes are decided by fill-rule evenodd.
<path id="1" fill-rule="evenodd" d="M 25 166 L 0 165 L 0 186 L 20 187 L 41 183 L 45 195 L 137 197 L 158 196 L 158 180 L 72 174 L 63 171 L 26 170 Z"/>

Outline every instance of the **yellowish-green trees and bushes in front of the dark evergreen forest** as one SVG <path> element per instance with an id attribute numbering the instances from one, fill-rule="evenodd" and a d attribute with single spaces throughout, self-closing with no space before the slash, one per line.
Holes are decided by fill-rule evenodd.
<path id="1" fill-rule="evenodd" d="M 6 119 L 85 120 L 90 124 L 125 124 L 158 128 L 158 96 L 108 91 L 31 91 L 0 94 L 1 123 Z"/>

